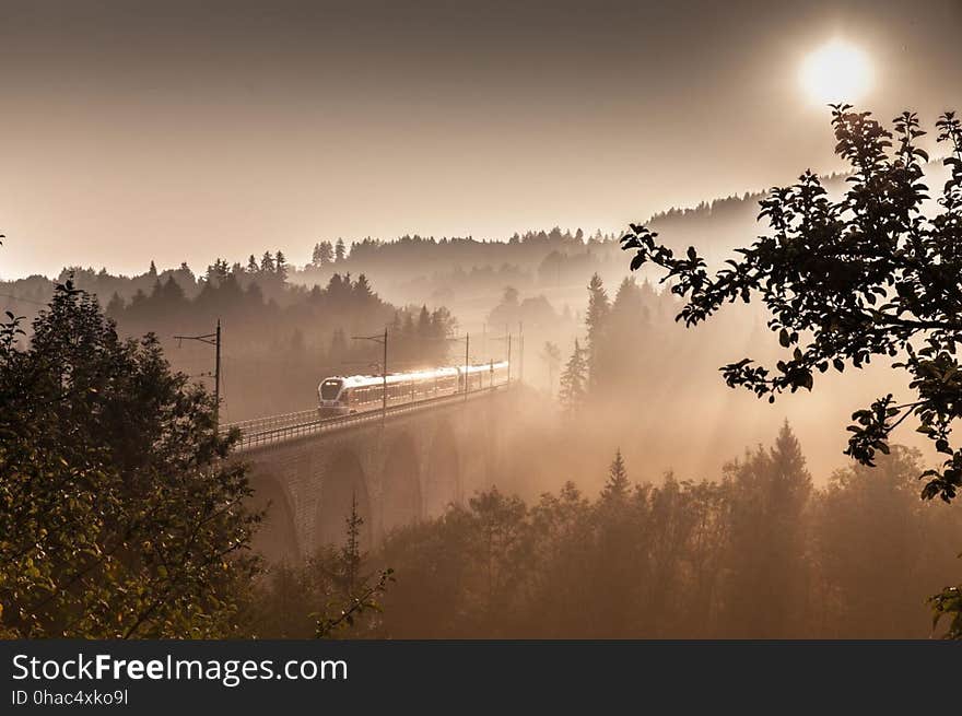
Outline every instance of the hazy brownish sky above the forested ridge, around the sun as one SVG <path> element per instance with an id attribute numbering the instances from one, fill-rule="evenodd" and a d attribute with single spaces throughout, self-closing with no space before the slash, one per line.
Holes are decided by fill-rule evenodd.
<path id="1" fill-rule="evenodd" d="M 620 230 L 835 168 L 799 66 L 962 110 L 962 0 L 0 0 L 0 277 Z"/>

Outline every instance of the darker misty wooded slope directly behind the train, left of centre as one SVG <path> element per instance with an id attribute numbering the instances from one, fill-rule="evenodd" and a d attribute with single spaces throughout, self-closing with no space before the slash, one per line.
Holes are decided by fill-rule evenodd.
<path id="1" fill-rule="evenodd" d="M 174 336 L 207 334 L 220 320 L 227 420 L 303 410 L 314 404 L 318 383 L 329 375 L 378 373 L 380 352 L 352 336 L 387 327 L 391 372 L 447 361 L 453 344 L 445 339 L 456 320 L 444 306 L 391 305 L 363 273 L 336 272 L 325 285 L 308 289 L 291 283 L 291 270 L 278 250 L 259 259 L 251 255 L 246 265 L 219 258 L 200 277 L 186 265 L 159 272 L 152 263 L 130 279 L 80 270 L 59 280 L 105 302 L 121 336 L 153 333 L 176 368 L 204 379 L 213 367 L 210 351 L 185 347 Z M 32 310 L 17 312 L 26 317 L 36 315 L 55 282 L 28 283 L 37 301 L 26 304 Z"/>

